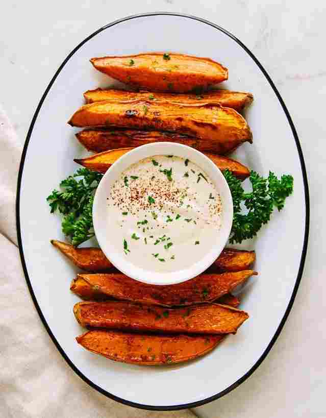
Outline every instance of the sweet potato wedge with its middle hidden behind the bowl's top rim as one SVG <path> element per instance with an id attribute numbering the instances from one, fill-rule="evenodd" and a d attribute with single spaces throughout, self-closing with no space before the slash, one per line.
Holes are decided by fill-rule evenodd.
<path id="1" fill-rule="evenodd" d="M 83 165 L 89 170 L 105 173 L 118 158 L 131 150 L 133 150 L 133 148 L 119 148 L 117 150 L 104 151 L 103 153 L 95 154 L 83 159 L 74 159 L 73 161 Z M 250 175 L 249 169 L 238 161 L 220 155 L 204 154 L 206 157 L 210 158 L 220 170 L 229 169 L 233 175 L 240 180 L 244 180 Z"/>

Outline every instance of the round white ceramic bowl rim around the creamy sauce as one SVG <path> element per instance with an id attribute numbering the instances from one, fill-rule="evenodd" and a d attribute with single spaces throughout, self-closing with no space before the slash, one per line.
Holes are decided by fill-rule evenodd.
<path id="1" fill-rule="evenodd" d="M 213 181 L 221 196 L 221 228 L 216 234 L 216 243 L 205 257 L 195 262 L 191 267 L 169 273 L 158 273 L 146 270 L 131 263 L 121 250 L 118 252 L 113 245 L 113 237 L 110 234 L 107 217 L 107 197 L 111 185 L 119 178 L 122 171 L 126 170 L 143 158 L 154 155 L 174 155 L 188 158 L 193 163 L 206 171 Z M 103 176 L 97 187 L 93 204 L 94 231 L 104 254 L 111 263 L 123 274 L 144 283 L 157 285 L 176 284 L 192 279 L 203 273 L 220 255 L 228 241 L 233 219 L 233 202 L 228 183 L 225 181 L 220 169 L 203 153 L 189 146 L 174 142 L 158 142 L 139 146 L 120 157 Z M 122 242 L 122 238 L 121 238 Z M 122 248 L 122 247 L 121 247 Z"/>

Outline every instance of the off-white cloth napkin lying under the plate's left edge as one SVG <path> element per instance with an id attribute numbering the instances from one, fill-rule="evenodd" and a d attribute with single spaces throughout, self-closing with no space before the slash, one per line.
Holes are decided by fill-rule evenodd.
<path id="1" fill-rule="evenodd" d="M 112 401 L 61 357 L 39 319 L 20 264 L 15 227 L 20 155 L 21 145 L 0 107 L 0 416 L 193 418 L 189 410 L 151 412 Z"/>

